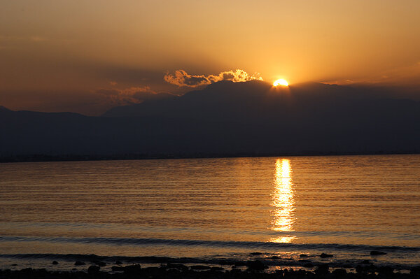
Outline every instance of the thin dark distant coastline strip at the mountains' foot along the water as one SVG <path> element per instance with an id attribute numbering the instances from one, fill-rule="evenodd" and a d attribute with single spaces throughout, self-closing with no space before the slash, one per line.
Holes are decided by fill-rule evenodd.
<path id="1" fill-rule="evenodd" d="M 0 163 L 23 162 L 77 162 L 77 161 L 118 161 L 141 159 L 204 159 L 204 158 L 243 158 L 243 157 L 296 157 L 296 156 L 356 156 L 356 155 L 416 155 L 420 150 L 395 152 L 282 152 L 282 153 L 234 153 L 234 154 L 120 154 L 120 155 L 16 155 L 0 156 Z"/>

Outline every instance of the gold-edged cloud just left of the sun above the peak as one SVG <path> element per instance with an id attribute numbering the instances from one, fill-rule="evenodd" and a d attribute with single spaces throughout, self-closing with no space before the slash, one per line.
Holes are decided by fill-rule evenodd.
<path id="1" fill-rule="evenodd" d="M 167 83 L 172 85 L 197 87 L 200 85 L 209 85 L 221 80 L 231 80 L 234 83 L 241 83 L 249 80 L 262 80 L 260 73 L 248 74 L 244 70 L 224 71 L 218 75 L 190 75 L 184 70 L 176 70 L 174 73 L 167 73 L 164 77 Z"/>

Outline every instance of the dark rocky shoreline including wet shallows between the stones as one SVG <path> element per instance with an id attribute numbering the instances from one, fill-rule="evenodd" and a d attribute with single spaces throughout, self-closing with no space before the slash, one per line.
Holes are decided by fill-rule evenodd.
<path id="1" fill-rule="evenodd" d="M 372 251 L 381 253 L 378 251 Z M 374 255 L 372 254 L 371 255 Z M 386 254 L 386 253 L 382 253 Z M 381 255 L 381 254 L 378 254 Z M 1 278 L 420 278 L 420 264 L 400 265 L 374 260 L 339 261 L 335 255 L 300 255 L 299 259 L 191 257 L 124 257 L 77 254 L 0 255 L 8 259 Z M 38 264 L 36 264 L 36 260 Z M 19 261 L 25 261 L 23 264 Z M 16 264 L 19 262 L 19 264 Z M 10 264 L 13 263 L 13 264 Z M 152 276 L 152 277 L 151 277 Z M 408 277 L 407 277 L 408 276 Z"/>

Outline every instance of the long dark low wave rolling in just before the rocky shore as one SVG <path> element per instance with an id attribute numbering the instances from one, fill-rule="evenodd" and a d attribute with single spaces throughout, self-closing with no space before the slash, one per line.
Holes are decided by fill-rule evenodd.
<path id="1" fill-rule="evenodd" d="M 38 237 L 38 236 L 0 236 L 0 241 L 42 241 L 50 243 L 82 243 L 105 245 L 176 245 L 176 246 L 209 246 L 230 248 L 265 248 L 286 250 L 341 250 L 341 251 L 370 251 L 381 250 L 387 252 L 420 252 L 419 247 L 384 246 L 384 245 L 354 245 L 333 243 L 274 243 L 259 241 L 204 241 L 190 239 L 159 239 L 159 238 L 71 238 L 71 237 Z"/>

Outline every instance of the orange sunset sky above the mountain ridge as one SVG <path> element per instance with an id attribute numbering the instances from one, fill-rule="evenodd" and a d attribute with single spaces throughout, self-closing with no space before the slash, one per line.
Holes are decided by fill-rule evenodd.
<path id="1" fill-rule="evenodd" d="M 99 115 L 228 79 L 420 88 L 420 1 L 0 0 L 0 105 Z"/>

